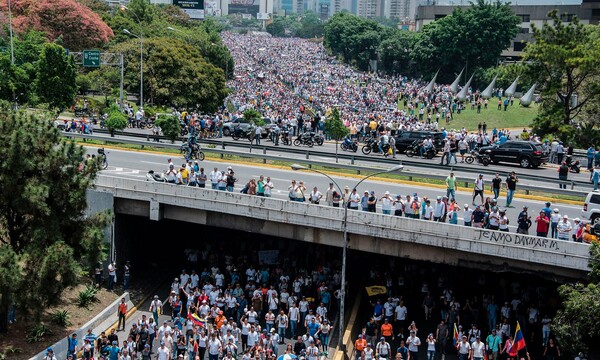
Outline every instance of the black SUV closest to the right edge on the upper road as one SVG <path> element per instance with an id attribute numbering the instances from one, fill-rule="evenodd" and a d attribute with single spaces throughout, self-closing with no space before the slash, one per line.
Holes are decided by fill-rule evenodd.
<path id="1" fill-rule="evenodd" d="M 509 140 L 501 145 L 481 147 L 479 153 L 487 153 L 494 164 L 509 162 L 524 168 L 536 168 L 548 161 L 542 145 L 533 141 Z"/>

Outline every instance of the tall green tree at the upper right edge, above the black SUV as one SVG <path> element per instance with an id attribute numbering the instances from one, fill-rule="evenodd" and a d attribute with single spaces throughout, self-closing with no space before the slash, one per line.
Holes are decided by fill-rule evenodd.
<path id="1" fill-rule="evenodd" d="M 600 30 L 583 25 L 577 18 L 564 23 L 556 11 L 548 16 L 552 22 L 544 23 L 541 29 L 534 26 L 535 41 L 525 48 L 528 72 L 542 94 L 534 131 L 571 140 L 572 121 L 582 115 L 588 103 L 600 100 Z"/>

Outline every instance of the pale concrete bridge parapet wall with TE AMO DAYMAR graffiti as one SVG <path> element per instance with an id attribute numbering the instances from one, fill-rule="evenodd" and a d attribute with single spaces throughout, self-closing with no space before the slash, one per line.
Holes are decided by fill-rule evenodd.
<path id="1" fill-rule="evenodd" d="M 279 224 L 339 232 L 331 245 L 341 246 L 343 209 L 283 199 L 258 197 L 167 183 L 146 182 L 106 175 L 98 176 L 95 190 L 109 192 L 116 198 L 150 202 L 151 219 L 158 220 L 160 205 L 234 214 Z M 152 214 L 154 212 L 154 214 Z M 416 245 L 464 252 L 465 258 L 491 256 L 548 267 L 586 272 L 589 246 L 536 236 L 521 235 L 460 225 L 435 223 L 378 213 L 348 213 L 350 247 L 388 255 L 390 249 L 377 241 L 353 242 L 354 238 L 388 239 Z M 358 235 L 358 236 L 355 236 Z M 309 234 L 308 236 L 315 236 Z M 307 239 L 310 241 L 310 238 Z M 313 240 L 314 241 L 314 240 Z"/>

